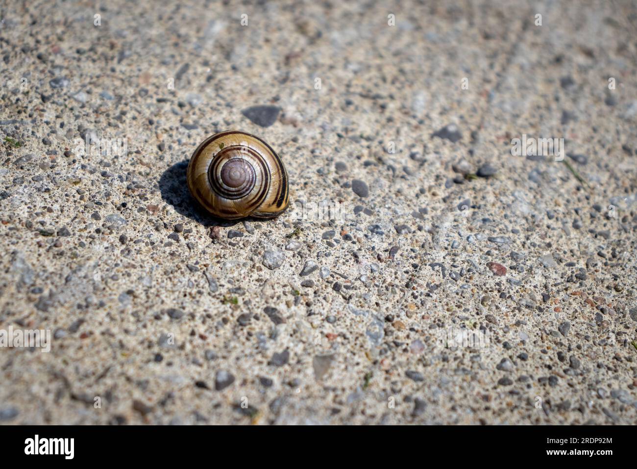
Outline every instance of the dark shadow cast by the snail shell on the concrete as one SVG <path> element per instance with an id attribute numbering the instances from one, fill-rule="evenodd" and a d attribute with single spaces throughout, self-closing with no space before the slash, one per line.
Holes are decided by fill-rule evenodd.
<path id="1" fill-rule="evenodd" d="M 222 220 L 206 212 L 201 205 L 190 195 L 186 183 L 186 170 L 189 160 L 175 163 L 164 171 L 159 178 L 159 191 L 161 198 L 172 205 L 179 214 L 200 223 L 204 227 L 233 227 L 242 220 Z"/>

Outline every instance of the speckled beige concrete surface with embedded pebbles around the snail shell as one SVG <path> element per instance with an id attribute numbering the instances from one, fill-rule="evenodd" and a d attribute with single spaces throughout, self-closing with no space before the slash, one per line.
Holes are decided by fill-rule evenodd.
<path id="1" fill-rule="evenodd" d="M 0 8 L 0 423 L 637 422 L 634 2 Z M 194 206 L 227 129 L 294 209 Z"/>

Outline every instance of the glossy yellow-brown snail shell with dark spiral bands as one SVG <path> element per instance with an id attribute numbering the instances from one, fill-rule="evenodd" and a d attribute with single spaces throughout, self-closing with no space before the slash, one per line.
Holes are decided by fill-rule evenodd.
<path id="1" fill-rule="evenodd" d="M 190 158 L 186 181 L 192 197 L 219 218 L 273 218 L 287 209 L 283 162 L 250 133 L 229 130 L 206 138 Z"/>

